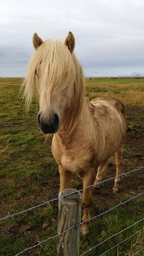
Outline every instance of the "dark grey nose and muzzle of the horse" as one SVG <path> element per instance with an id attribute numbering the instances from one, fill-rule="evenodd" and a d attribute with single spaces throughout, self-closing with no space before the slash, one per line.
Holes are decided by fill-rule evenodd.
<path id="1" fill-rule="evenodd" d="M 47 133 L 55 133 L 59 128 L 59 116 L 57 114 L 53 114 L 49 117 L 47 122 L 44 121 L 43 116 L 38 114 L 37 116 L 37 124 L 41 131 L 45 134 Z"/>

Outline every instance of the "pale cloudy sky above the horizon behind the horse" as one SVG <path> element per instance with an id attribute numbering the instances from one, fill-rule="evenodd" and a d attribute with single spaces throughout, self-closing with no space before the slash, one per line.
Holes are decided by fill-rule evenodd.
<path id="1" fill-rule="evenodd" d="M 24 77 L 32 37 L 75 36 L 85 76 L 144 76 L 144 0 L 1 0 L 0 77 Z"/>

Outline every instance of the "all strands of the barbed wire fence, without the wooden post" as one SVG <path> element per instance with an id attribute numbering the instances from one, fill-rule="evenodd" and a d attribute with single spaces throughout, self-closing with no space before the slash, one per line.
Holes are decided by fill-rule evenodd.
<path id="1" fill-rule="evenodd" d="M 121 173 L 121 174 L 118 175 L 118 176 L 115 176 L 115 177 L 109 178 L 109 179 L 107 179 L 107 180 L 104 180 L 103 182 L 98 182 L 97 184 L 103 184 L 103 183 L 106 182 L 106 181 L 115 179 L 115 178 L 120 177 L 120 176 L 121 176 L 121 177 L 127 176 L 127 174 L 130 174 L 130 173 L 135 172 L 135 171 L 138 171 L 138 170 L 142 170 L 143 168 L 144 168 L 144 166 L 138 167 L 138 168 L 136 168 L 136 169 L 134 169 L 134 170 L 131 170 L 131 171 L 129 171 L 129 172 Z M 64 197 L 66 197 L 66 196 L 69 196 L 69 195 L 75 194 L 75 193 L 79 193 L 79 194 L 80 194 L 81 191 L 83 191 L 84 189 L 87 189 L 87 188 L 92 187 L 92 186 L 95 186 L 95 185 L 96 185 L 96 184 L 93 184 L 93 185 L 91 185 L 91 186 L 87 186 L 87 187 L 85 187 L 85 188 L 83 188 L 83 189 L 81 189 L 81 190 L 78 190 L 78 191 L 76 190 L 76 191 L 74 191 L 74 192 L 71 192 L 71 193 L 66 194 L 66 195 L 64 195 L 64 196 L 61 196 L 61 197 L 59 197 L 59 198 L 64 198 Z M 141 197 L 141 196 L 144 196 L 144 192 L 142 192 L 142 193 L 140 193 L 140 194 L 138 194 L 138 195 L 136 195 L 136 196 L 133 196 L 132 198 L 129 198 L 128 200 L 126 200 L 126 201 L 124 201 L 124 202 L 121 202 L 121 201 L 120 201 L 119 204 L 113 206 L 112 208 L 108 209 L 107 211 L 101 212 L 100 214 L 98 214 L 98 215 L 96 215 L 96 216 L 93 216 L 92 218 L 89 218 L 89 219 L 87 219 L 87 220 L 85 220 L 85 221 L 82 221 L 82 222 L 80 222 L 80 223 L 77 223 L 77 224 L 75 224 L 74 226 L 71 226 L 71 227 L 67 228 L 66 230 L 64 230 L 63 232 L 61 232 L 61 233 L 59 233 L 59 234 L 57 234 L 57 235 L 55 235 L 55 236 L 51 236 L 51 237 L 49 237 L 49 238 L 47 238 L 47 239 L 45 239 L 45 240 L 43 240 L 43 241 L 41 241 L 41 242 L 37 242 L 37 244 L 35 244 L 34 246 L 31 246 L 31 247 L 29 247 L 29 248 L 26 248 L 25 250 L 22 250 L 21 252 L 19 252 L 19 253 L 16 254 L 15 256 L 24 254 L 25 252 L 28 252 L 28 251 L 31 250 L 31 249 L 34 249 L 34 248 L 36 248 L 36 247 L 38 247 L 38 246 L 41 246 L 41 245 L 44 244 L 45 242 L 48 242 L 48 241 L 51 240 L 51 239 L 57 238 L 57 237 L 59 237 L 59 236 L 65 234 L 68 230 L 73 230 L 74 228 L 77 228 L 77 227 L 80 226 L 81 224 L 84 224 L 84 223 L 86 223 L 86 222 L 88 222 L 88 221 L 90 221 L 90 220 L 95 220 L 96 218 L 101 218 L 102 216 L 104 216 L 104 215 L 107 214 L 108 212 L 114 210 L 115 208 L 118 208 L 119 206 L 123 206 L 123 205 L 125 206 L 125 204 L 126 204 L 127 202 L 130 202 L 131 200 L 133 200 L 133 199 L 135 199 L 135 198 L 138 198 L 138 197 Z M 55 200 L 58 200 L 59 198 L 54 198 L 54 199 L 52 199 L 52 200 L 45 201 L 45 202 L 43 202 L 42 204 L 39 204 L 39 205 L 37 205 L 37 206 L 34 206 L 34 207 L 32 207 L 32 208 L 26 209 L 26 210 L 24 210 L 24 211 L 21 211 L 21 212 L 15 213 L 15 214 L 11 214 L 11 215 L 10 215 L 9 212 L 8 212 L 8 216 L 6 216 L 6 217 L 4 217 L 4 218 L 1 218 L 0 220 L 2 221 L 2 220 L 6 220 L 6 219 L 8 219 L 8 218 L 14 219 L 14 216 L 17 216 L 17 215 L 19 215 L 19 214 L 28 212 L 28 211 L 30 211 L 30 210 L 36 209 L 36 208 L 41 207 L 41 206 L 45 206 L 45 205 L 49 204 L 50 202 L 53 202 L 53 201 L 55 201 Z M 125 242 L 125 241 L 128 240 L 129 238 L 132 238 L 132 237 L 134 238 L 134 236 L 135 236 L 136 234 L 138 234 L 138 232 L 144 230 L 144 227 L 143 227 L 143 228 L 141 228 L 140 230 L 138 230 L 137 232 L 135 232 L 136 224 L 138 224 L 139 222 L 142 222 L 143 220 L 144 220 L 144 218 L 142 218 L 141 220 L 138 220 L 138 221 L 135 222 L 134 224 L 128 226 L 127 228 L 124 228 L 123 230 L 117 232 L 116 234 L 114 234 L 114 235 L 108 237 L 107 239 L 103 240 L 103 241 L 102 241 L 101 243 L 99 243 L 99 244 L 96 244 L 95 246 L 93 246 L 92 248 L 90 248 L 89 250 L 87 250 L 86 252 L 84 252 L 83 254 L 81 254 L 80 256 L 83 256 L 83 255 L 85 255 L 85 254 L 91 252 L 91 250 L 93 250 L 93 249 L 97 248 L 98 246 L 100 246 L 101 244 L 107 242 L 110 238 L 113 238 L 113 237 L 117 236 L 118 234 L 121 234 L 122 232 L 124 232 L 125 230 L 128 230 L 128 229 L 132 228 L 133 226 L 134 226 L 134 234 L 132 234 L 132 235 L 129 236 L 128 238 L 124 239 L 124 240 L 121 241 L 119 244 L 116 244 L 115 246 L 113 246 L 112 248 L 110 248 L 109 250 L 107 250 L 107 252 L 109 252 L 110 250 L 114 249 L 116 246 L 122 244 L 123 242 Z M 133 243 L 134 243 L 134 239 L 133 239 Z M 132 252 L 131 256 L 134 256 L 134 255 L 138 254 L 138 252 L 140 252 L 140 251 L 142 251 L 142 250 L 144 250 L 144 248 L 140 248 L 140 250 L 138 250 L 138 251 L 135 252 L 135 253 Z M 104 252 L 104 253 L 101 254 L 100 256 L 106 254 L 107 252 Z"/>

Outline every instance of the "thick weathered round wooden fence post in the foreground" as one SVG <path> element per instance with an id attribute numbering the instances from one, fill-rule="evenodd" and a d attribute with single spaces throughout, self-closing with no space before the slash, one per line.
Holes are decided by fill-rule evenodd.
<path id="1" fill-rule="evenodd" d="M 75 191 L 75 189 L 67 188 L 59 193 L 58 234 L 81 222 L 81 195 L 76 193 L 60 198 L 73 191 Z M 57 255 L 79 256 L 79 239 L 80 226 L 58 236 Z"/>

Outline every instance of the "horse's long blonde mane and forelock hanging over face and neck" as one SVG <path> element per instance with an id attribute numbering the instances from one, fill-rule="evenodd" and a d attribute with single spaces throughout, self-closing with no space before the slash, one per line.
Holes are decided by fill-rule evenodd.
<path id="1" fill-rule="evenodd" d="M 85 95 L 83 70 L 75 54 L 71 54 L 67 46 L 58 40 L 47 40 L 36 49 L 22 85 L 27 111 L 34 94 L 38 96 L 39 78 L 41 96 L 48 103 L 52 95 L 67 86 L 73 86 L 71 121 L 67 130 L 67 136 L 70 135 L 77 124 Z"/>

